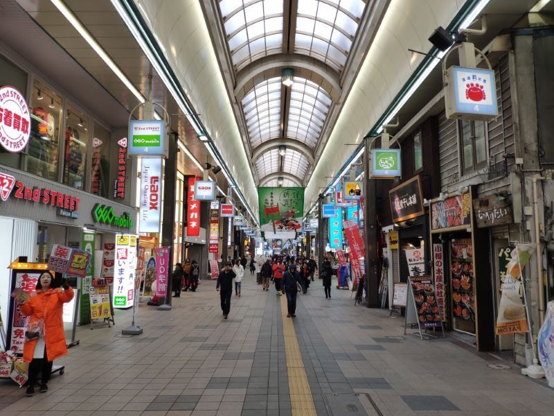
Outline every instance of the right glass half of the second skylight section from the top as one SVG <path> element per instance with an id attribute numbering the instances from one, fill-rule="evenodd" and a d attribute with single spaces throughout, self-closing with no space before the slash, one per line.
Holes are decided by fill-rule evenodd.
<path id="1" fill-rule="evenodd" d="M 294 77 L 291 87 L 287 137 L 315 148 L 331 107 L 331 97 L 316 83 Z"/>

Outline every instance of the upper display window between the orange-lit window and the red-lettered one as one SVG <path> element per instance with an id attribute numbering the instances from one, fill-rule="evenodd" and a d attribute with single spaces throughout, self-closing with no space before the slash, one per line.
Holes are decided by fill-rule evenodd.
<path id="1" fill-rule="evenodd" d="M 89 119 L 72 105 L 66 112 L 64 148 L 64 184 L 83 189 L 87 162 Z"/>

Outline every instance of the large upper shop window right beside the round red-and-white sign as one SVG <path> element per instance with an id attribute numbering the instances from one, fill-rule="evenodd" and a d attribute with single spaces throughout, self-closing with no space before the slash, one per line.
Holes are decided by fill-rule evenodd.
<path id="1" fill-rule="evenodd" d="M 62 97 L 35 80 L 30 103 L 31 132 L 27 171 L 57 181 Z"/>

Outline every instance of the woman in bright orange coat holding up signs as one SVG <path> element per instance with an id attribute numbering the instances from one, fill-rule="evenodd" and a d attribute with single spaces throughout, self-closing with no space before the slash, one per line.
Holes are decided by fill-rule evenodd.
<path id="1" fill-rule="evenodd" d="M 19 305 L 21 313 L 30 317 L 23 345 L 23 361 L 30 363 L 27 396 L 35 394 L 39 372 L 42 372 L 40 392 L 48 390 L 46 383 L 53 361 L 67 354 L 62 311 L 64 303 L 73 299 L 73 289 L 66 279 L 62 280 L 62 286 L 64 290 L 50 272 L 44 272 L 37 281 L 37 295 Z"/>

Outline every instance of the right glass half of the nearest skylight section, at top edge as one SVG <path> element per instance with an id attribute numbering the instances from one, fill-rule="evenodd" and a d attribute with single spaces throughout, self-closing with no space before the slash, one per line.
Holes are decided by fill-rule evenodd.
<path id="1" fill-rule="evenodd" d="M 298 1 L 294 51 L 342 71 L 365 7 L 362 0 Z"/>

